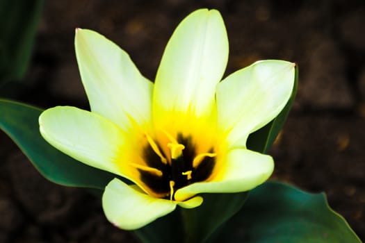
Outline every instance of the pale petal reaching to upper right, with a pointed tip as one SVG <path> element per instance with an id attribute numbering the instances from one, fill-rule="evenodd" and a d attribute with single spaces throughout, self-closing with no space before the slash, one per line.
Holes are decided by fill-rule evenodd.
<path id="1" fill-rule="evenodd" d="M 217 86 L 218 129 L 227 146 L 244 147 L 248 135 L 273 120 L 293 91 L 295 64 L 255 62 Z"/>

